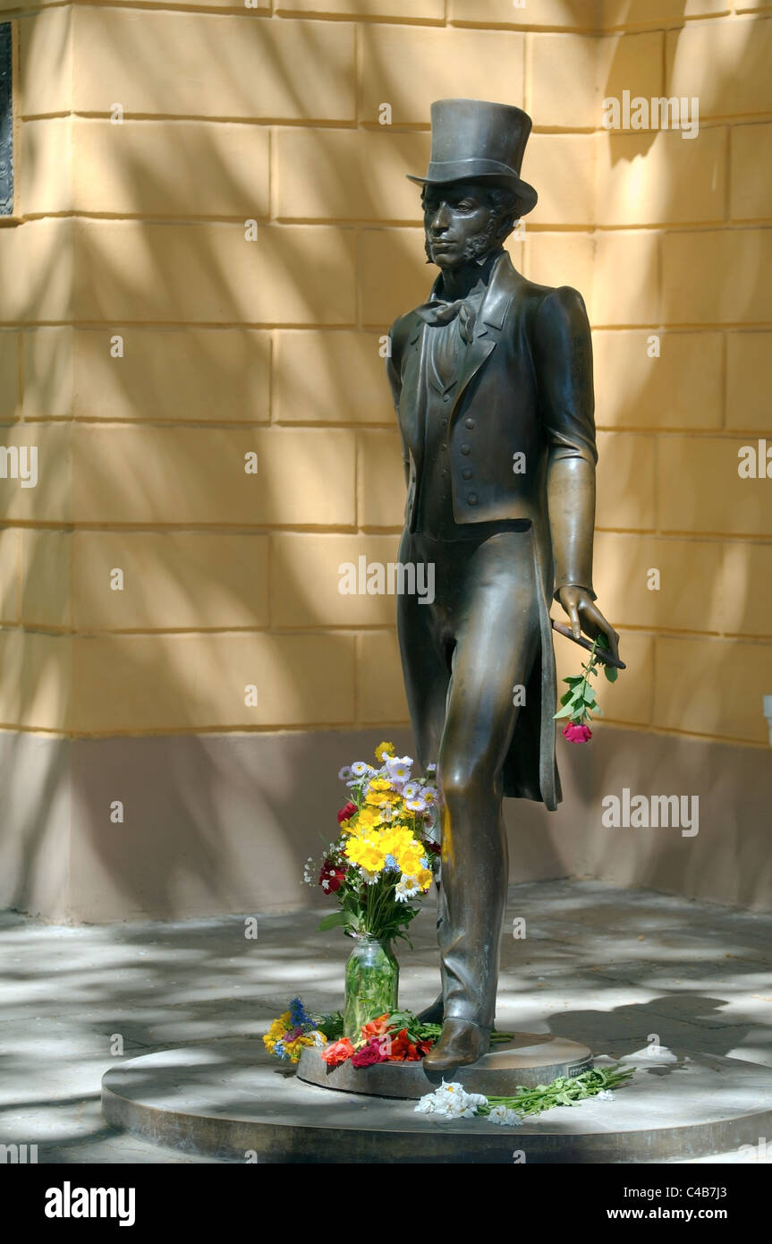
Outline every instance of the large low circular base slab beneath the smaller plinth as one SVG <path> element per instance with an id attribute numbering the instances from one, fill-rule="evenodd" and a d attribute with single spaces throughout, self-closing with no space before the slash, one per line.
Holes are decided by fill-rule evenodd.
<path id="1" fill-rule="evenodd" d="M 226 1162 L 673 1162 L 772 1135 L 770 1067 L 678 1050 L 619 1061 L 638 1070 L 613 1101 L 590 1097 L 500 1127 L 327 1092 L 269 1059 L 257 1037 L 234 1037 L 111 1067 L 102 1111 L 116 1127 Z"/>

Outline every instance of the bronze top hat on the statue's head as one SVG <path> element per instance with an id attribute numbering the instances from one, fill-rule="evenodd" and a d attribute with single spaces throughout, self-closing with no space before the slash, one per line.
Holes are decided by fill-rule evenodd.
<path id="1" fill-rule="evenodd" d="M 531 117 L 508 103 L 482 100 L 435 100 L 431 104 L 431 156 L 425 177 L 410 182 L 470 180 L 503 185 L 517 197 L 521 216 L 536 207 L 537 194 L 520 175 L 531 133 Z"/>

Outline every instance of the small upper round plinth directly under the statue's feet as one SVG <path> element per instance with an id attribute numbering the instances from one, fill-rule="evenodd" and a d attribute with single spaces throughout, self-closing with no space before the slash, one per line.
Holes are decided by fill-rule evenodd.
<path id="1" fill-rule="evenodd" d="M 586 1045 L 562 1036 L 537 1036 L 515 1033 L 515 1040 L 496 1042 L 490 1054 L 466 1067 L 444 1075 L 426 1071 L 420 1062 L 377 1062 L 372 1067 L 354 1067 L 351 1061 L 328 1067 L 319 1050 L 303 1050 L 297 1066 L 297 1079 L 319 1088 L 341 1092 L 363 1092 L 374 1097 L 407 1097 L 415 1101 L 439 1088 L 443 1079 L 455 1080 L 467 1092 L 486 1097 L 507 1097 L 518 1085 L 535 1088 L 558 1076 L 578 1076 L 589 1071 L 593 1060 Z"/>

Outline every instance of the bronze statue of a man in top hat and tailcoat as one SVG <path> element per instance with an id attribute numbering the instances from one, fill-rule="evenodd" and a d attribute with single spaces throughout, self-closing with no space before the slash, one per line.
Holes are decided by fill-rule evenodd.
<path id="1" fill-rule="evenodd" d="M 399 560 L 434 564 L 433 603 L 398 628 L 421 765 L 444 796 L 438 940 L 443 1019 L 426 1067 L 486 1052 L 507 891 L 502 796 L 561 800 L 549 605 L 574 638 L 618 636 L 594 605 L 595 432 L 584 304 L 503 250 L 536 205 L 520 177 L 531 118 L 479 100 L 431 106 L 423 187 L 429 301 L 390 330 L 408 481 Z"/>

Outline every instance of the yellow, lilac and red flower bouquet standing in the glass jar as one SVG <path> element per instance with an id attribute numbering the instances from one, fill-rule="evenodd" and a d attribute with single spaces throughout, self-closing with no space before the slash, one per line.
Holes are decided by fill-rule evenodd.
<path id="1" fill-rule="evenodd" d="M 339 837 L 321 867 L 310 858 L 303 871 L 308 884 L 319 884 L 338 902 L 319 929 L 343 926 L 359 937 L 409 940 L 404 928 L 418 916 L 411 901 L 426 893 L 439 870 L 436 766 L 414 778 L 410 756 L 394 750 L 393 743 L 382 743 L 375 749 L 379 768 L 358 760 L 338 774 L 351 791 L 338 812 Z"/>

